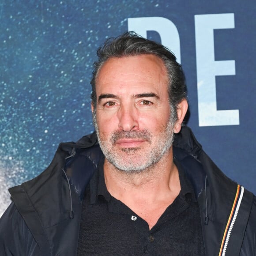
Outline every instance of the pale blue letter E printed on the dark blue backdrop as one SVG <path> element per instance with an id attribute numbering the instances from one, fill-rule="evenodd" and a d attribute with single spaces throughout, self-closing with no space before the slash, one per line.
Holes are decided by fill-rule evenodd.
<path id="1" fill-rule="evenodd" d="M 199 126 L 237 125 L 239 110 L 217 110 L 216 75 L 235 75 L 235 61 L 215 61 L 214 29 L 234 28 L 234 14 L 195 15 Z"/>

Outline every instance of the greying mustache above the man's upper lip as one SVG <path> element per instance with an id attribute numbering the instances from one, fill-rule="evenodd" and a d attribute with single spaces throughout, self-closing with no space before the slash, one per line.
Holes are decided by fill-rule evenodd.
<path id="1" fill-rule="evenodd" d="M 143 139 L 151 143 L 151 134 L 147 130 L 144 131 L 115 131 L 112 133 L 110 141 L 115 144 L 119 139 Z"/>

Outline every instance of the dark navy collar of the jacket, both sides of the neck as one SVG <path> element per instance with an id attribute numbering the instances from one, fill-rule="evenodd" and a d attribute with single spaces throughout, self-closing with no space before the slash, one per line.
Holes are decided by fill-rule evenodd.
<path id="1" fill-rule="evenodd" d="M 68 148 L 70 146 L 73 148 Z M 65 168 L 71 184 L 82 201 L 85 188 L 89 184 L 93 173 L 98 168 L 100 159 L 103 157 L 96 133 L 94 132 L 90 136 L 83 136 L 75 144 L 60 144 L 60 147 L 66 148 L 66 151 L 68 150 L 71 156 L 67 157 Z M 202 147 L 196 141 L 190 128 L 184 126 L 180 133 L 175 134 L 173 157 L 181 163 L 193 185 L 196 197 L 203 191 L 206 177 L 206 173 L 198 160 L 198 155 L 201 151 Z M 69 171 L 70 169 L 75 169 L 75 171 Z"/>

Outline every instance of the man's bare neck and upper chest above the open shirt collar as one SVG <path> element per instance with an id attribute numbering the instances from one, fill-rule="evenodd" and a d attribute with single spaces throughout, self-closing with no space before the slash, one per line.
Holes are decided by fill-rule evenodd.
<path id="1" fill-rule="evenodd" d="M 181 190 L 172 148 L 158 163 L 140 173 L 125 173 L 105 160 L 104 175 L 109 193 L 143 218 L 149 229 Z"/>

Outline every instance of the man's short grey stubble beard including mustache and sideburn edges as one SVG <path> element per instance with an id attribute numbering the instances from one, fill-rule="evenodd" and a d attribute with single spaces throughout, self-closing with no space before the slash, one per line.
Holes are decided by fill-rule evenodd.
<path id="1" fill-rule="evenodd" d="M 115 168 L 125 173 L 141 173 L 154 166 L 167 154 L 173 144 L 174 122 L 171 118 L 166 126 L 162 127 L 162 131 L 159 131 L 157 138 L 154 138 L 148 130 L 115 131 L 110 134 L 109 138 L 104 138 L 98 128 L 96 111 L 93 113 L 93 123 L 105 158 Z M 143 139 L 144 143 L 148 144 L 146 145 L 148 150 L 145 150 L 145 145 L 143 150 L 140 147 L 117 149 L 115 146 L 118 139 Z M 155 143 L 152 143 L 153 139 L 155 139 Z"/>

